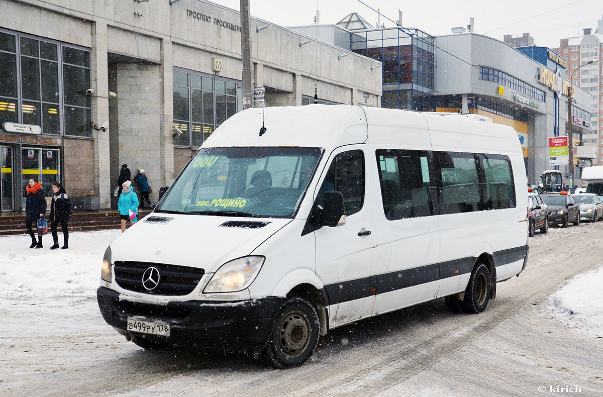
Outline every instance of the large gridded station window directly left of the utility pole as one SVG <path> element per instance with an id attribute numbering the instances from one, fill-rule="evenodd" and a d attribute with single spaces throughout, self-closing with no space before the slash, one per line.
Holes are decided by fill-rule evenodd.
<path id="1" fill-rule="evenodd" d="M 174 145 L 200 147 L 238 110 L 237 82 L 174 70 Z"/>

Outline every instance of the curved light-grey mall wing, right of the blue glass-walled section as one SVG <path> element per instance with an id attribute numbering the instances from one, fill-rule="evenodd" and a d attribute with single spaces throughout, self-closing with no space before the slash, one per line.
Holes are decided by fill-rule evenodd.
<path id="1" fill-rule="evenodd" d="M 478 113 L 494 122 L 511 125 L 519 134 L 529 183 L 555 168 L 549 163 L 549 138 L 567 135 L 567 94 L 573 89 L 573 115 L 589 119 L 590 94 L 563 78 L 563 59 L 546 62 L 547 48 L 531 48 L 534 54 L 475 33 L 437 36 L 435 87 L 437 110 Z M 538 62 L 538 60 L 541 62 Z M 553 60 L 554 59 L 554 60 Z M 451 77 L 454 78 L 451 78 Z M 578 151 L 586 125 L 572 124 L 573 144 Z M 578 157 L 593 153 L 576 153 Z M 568 166 L 557 166 L 565 173 Z M 579 173 L 575 173 L 578 179 Z"/>

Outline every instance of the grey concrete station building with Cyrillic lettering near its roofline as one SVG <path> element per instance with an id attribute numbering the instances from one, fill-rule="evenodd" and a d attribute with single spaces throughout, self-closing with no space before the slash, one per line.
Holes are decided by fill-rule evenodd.
<path id="1" fill-rule="evenodd" d="M 46 195 L 58 180 L 78 207 L 109 208 L 121 164 L 133 177 L 144 168 L 156 199 L 242 109 L 237 11 L 200 0 L 0 8 L 2 211 L 24 206 L 32 175 Z M 379 106 L 371 68 L 380 63 L 267 21 L 251 18 L 250 30 L 265 106 L 300 106 L 315 92 L 324 103 Z"/>

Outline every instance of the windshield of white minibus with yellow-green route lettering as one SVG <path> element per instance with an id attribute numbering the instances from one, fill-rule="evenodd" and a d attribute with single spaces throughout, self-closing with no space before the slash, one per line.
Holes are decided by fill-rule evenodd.
<path id="1" fill-rule="evenodd" d="M 156 212 L 293 217 L 320 156 L 319 148 L 201 148 Z"/>

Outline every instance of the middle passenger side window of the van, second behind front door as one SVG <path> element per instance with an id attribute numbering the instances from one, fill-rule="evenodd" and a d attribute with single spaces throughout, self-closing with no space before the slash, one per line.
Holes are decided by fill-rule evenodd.
<path id="1" fill-rule="evenodd" d="M 441 173 L 440 214 L 478 211 L 478 162 L 472 153 L 436 152 Z"/>

